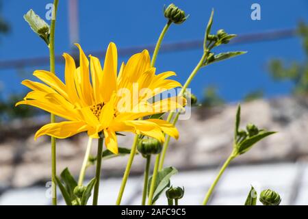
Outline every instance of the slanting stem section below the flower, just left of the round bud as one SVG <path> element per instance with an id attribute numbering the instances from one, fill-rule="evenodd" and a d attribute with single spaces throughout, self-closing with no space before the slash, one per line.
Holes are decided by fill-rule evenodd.
<path id="1" fill-rule="evenodd" d="M 135 157 L 135 154 L 136 154 L 138 139 L 139 139 L 138 135 L 136 135 L 135 138 L 133 139 L 133 145 L 131 146 L 131 153 L 129 154 L 129 160 L 125 168 L 122 183 L 120 186 L 120 191 L 118 192 L 118 198 L 116 199 L 116 205 L 120 205 L 122 201 L 123 193 L 125 190 L 125 185 L 129 177 L 129 172 L 131 172 L 131 164 L 133 164 L 133 157 Z"/>

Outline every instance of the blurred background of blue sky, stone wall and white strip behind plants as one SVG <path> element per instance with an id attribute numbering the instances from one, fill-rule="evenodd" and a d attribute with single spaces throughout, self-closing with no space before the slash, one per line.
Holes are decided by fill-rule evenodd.
<path id="1" fill-rule="evenodd" d="M 28 91 L 21 81 L 34 79 L 36 69 L 49 69 L 48 48 L 31 31 L 23 14 L 32 8 L 45 18 L 49 3 L 0 0 L 0 205 L 51 204 L 47 183 L 51 172 L 49 138 L 33 138 L 49 116 L 28 106 L 14 107 Z M 166 157 L 166 165 L 180 172 L 172 178 L 172 185 L 185 187 L 180 203 L 201 203 L 217 168 L 232 150 L 236 104 L 242 103 L 242 125 L 251 122 L 279 133 L 233 162 L 210 204 L 242 205 L 250 185 L 258 192 L 264 188 L 277 190 L 283 205 L 307 204 L 307 1 L 60 1 L 55 33 L 57 75 L 63 78 L 62 53 L 75 54 L 75 42 L 86 54 L 100 58 L 107 44 L 115 42 L 120 62 L 142 49 L 152 52 L 166 23 L 164 5 L 170 3 L 190 17 L 168 31 L 157 57 L 158 73 L 173 70 L 177 79 L 185 82 L 202 55 L 212 8 L 212 31 L 225 29 L 238 34 L 216 51 L 248 51 L 201 69 L 190 86 L 200 106 L 192 109 L 190 120 L 179 122 L 181 137 L 171 143 Z M 253 3 L 261 6 L 260 20 L 251 18 Z M 118 139 L 120 146 L 131 145 L 131 136 Z M 78 175 L 86 141 L 84 134 L 58 141 L 59 174 L 68 167 Z M 103 162 L 99 203 L 115 203 L 126 162 L 127 157 Z M 140 203 L 143 167 L 144 159 L 136 157 L 123 204 Z M 94 170 L 89 168 L 88 179 L 93 175 Z M 166 204 L 166 198 L 158 204 Z"/>

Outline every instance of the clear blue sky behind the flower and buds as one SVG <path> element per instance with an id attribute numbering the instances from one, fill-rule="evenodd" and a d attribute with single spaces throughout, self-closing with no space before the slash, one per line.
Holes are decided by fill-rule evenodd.
<path id="1" fill-rule="evenodd" d="M 166 19 L 162 15 L 164 4 L 175 3 L 190 14 L 183 25 L 172 25 L 164 42 L 179 42 L 203 38 L 205 25 L 215 9 L 213 30 L 225 29 L 233 34 L 251 34 L 272 29 L 296 27 L 298 21 L 308 22 L 308 1 L 86 1 L 79 0 L 79 38 L 85 51 L 104 50 L 110 41 L 117 47 L 154 44 Z M 3 3 L 3 16 L 10 22 L 12 31 L 1 37 L 0 60 L 47 56 L 44 42 L 36 37 L 23 20 L 23 14 L 33 8 L 44 17 L 45 5 L 51 1 L 10 0 Z M 251 5 L 261 5 L 261 21 L 251 20 Z M 62 0 L 57 14 L 57 54 L 70 51 L 68 38 L 68 1 Z M 252 90 L 263 89 L 267 97 L 290 92 L 289 82 L 277 83 L 269 77 L 266 64 L 273 57 L 285 60 L 304 60 L 298 38 L 253 44 L 237 44 L 221 47 L 219 51 L 244 50 L 246 55 L 203 68 L 195 77 L 191 88 L 199 98 L 206 86 L 216 85 L 219 94 L 227 101 L 238 101 Z M 157 72 L 173 70 L 182 83 L 202 55 L 202 48 L 177 53 L 164 53 L 157 58 Z M 120 61 L 126 61 L 127 57 Z M 48 66 L 38 66 L 48 69 Z M 36 68 L 0 70 L 4 94 L 20 92 L 22 79 L 31 78 Z M 63 66 L 57 66 L 57 74 L 63 75 Z"/>

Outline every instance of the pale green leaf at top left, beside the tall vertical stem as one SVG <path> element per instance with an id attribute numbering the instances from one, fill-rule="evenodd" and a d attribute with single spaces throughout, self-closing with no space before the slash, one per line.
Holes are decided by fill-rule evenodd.
<path id="1" fill-rule="evenodd" d="M 29 10 L 23 18 L 29 23 L 34 33 L 38 34 L 49 45 L 49 25 L 34 10 Z"/>

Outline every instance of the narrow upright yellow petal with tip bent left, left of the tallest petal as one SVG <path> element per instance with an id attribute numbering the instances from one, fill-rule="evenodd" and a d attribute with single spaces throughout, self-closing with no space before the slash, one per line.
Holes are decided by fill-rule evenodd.
<path id="1" fill-rule="evenodd" d="M 80 62 L 80 90 L 81 95 L 85 103 L 92 105 L 94 102 L 93 88 L 90 83 L 90 73 L 89 73 L 89 60 L 84 54 L 79 44 L 75 44 L 79 49 L 79 62 Z"/>

